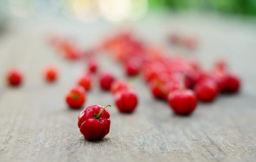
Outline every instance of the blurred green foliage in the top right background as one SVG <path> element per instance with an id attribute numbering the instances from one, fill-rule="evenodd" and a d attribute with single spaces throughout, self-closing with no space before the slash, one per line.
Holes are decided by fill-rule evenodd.
<path id="1" fill-rule="evenodd" d="M 150 11 L 212 11 L 256 15 L 256 0 L 148 0 Z"/>

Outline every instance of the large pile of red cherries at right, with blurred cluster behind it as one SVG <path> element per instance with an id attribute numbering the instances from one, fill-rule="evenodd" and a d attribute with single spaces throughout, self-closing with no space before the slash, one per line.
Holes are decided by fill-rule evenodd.
<path id="1" fill-rule="evenodd" d="M 172 36 L 171 41 L 195 48 L 193 37 Z M 174 41 L 175 40 L 175 41 Z M 127 75 L 141 74 L 155 98 L 167 100 L 179 115 L 192 113 L 198 100 L 213 101 L 220 93 L 236 93 L 240 80 L 231 74 L 223 61 L 205 71 L 195 60 L 166 56 L 162 51 L 147 48 L 130 33 L 121 33 L 104 42 L 104 48 L 122 63 Z"/>

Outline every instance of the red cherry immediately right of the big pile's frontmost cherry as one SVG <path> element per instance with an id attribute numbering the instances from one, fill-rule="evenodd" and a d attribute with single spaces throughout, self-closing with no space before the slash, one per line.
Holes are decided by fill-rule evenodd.
<path id="1" fill-rule="evenodd" d="M 198 82 L 194 87 L 194 91 L 199 100 L 211 102 L 218 95 L 218 85 L 215 81 L 206 79 Z"/>

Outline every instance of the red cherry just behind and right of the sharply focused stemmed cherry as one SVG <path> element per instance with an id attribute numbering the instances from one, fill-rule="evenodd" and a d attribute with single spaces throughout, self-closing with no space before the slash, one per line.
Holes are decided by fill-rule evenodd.
<path id="1" fill-rule="evenodd" d="M 134 91 L 123 90 L 115 94 L 115 105 L 120 112 L 133 112 L 138 103 Z"/>

